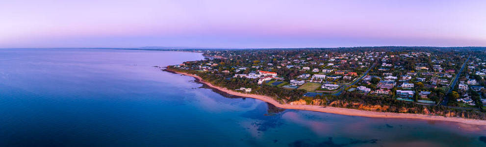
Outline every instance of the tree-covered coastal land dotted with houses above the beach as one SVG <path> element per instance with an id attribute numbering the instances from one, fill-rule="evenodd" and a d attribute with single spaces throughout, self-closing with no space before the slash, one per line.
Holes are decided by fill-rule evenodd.
<path id="1" fill-rule="evenodd" d="M 486 120 L 482 87 L 486 81 L 484 75 L 476 74 L 486 72 L 486 56 L 479 50 L 204 50 L 205 60 L 168 66 L 167 70 L 194 74 L 228 90 L 268 96 L 281 104 L 303 101 L 308 105 Z M 469 60 L 471 55 L 474 61 Z M 462 71 L 466 64 L 475 66 Z M 474 90 L 458 89 L 458 83 L 472 79 L 477 80 L 470 84 Z"/>

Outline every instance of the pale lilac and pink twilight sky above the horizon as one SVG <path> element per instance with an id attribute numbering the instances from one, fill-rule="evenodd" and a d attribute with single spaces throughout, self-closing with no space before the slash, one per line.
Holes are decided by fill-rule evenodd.
<path id="1" fill-rule="evenodd" d="M 0 48 L 486 46 L 486 0 L 3 0 Z"/>

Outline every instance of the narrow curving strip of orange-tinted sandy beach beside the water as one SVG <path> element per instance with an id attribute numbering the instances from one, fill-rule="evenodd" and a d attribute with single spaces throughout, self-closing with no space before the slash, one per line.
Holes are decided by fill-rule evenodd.
<path id="1" fill-rule="evenodd" d="M 211 88 L 217 89 L 221 92 L 225 92 L 227 94 L 239 96 L 239 97 L 259 99 L 259 100 L 271 103 L 271 104 L 275 105 L 276 107 L 283 108 L 283 109 L 307 110 L 307 111 L 332 113 L 332 114 L 347 115 L 347 116 L 370 117 L 370 118 L 420 119 L 420 120 L 446 121 L 446 122 L 455 122 L 455 123 L 465 123 L 465 124 L 486 126 L 485 120 L 453 118 L 453 117 L 444 117 L 444 116 L 430 116 L 430 115 L 425 115 L 425 114 L 376 112 L 376 111 L 347 109 L 347 108 L 339 108 L 339 107 L 331 107 L 331 106 L 281 104 L 277 100 L 270 98 L 270 97 L 267 97 L 267 96 L 255 95 L 255 94 L 243 94 L 243 93 L 238 93 L 238 92 L 235 92 L 235 91 L 228 90 L 226 88 L 214 86 L 209 82 L 205 82 L 201 77 L 199 77 L 197 75 L 193 75 L 193 74 L 189 74 L 189 73 L 180 73 L 180 72 L 175 72 L 175 71 L 170 71 L 170 70 L 166 70 L 166 71 L 170 72 L 170 73 L 177 73 L 177 74 L 192 76 L 192 77 L 198 79 L 200 83 L 203 83 L 203 84 L 205 84 L 205 85 L 207 85 Z"/>

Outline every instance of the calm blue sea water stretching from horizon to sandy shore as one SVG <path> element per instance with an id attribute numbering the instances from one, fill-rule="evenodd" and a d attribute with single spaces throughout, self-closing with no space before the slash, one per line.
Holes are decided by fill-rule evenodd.
<path id="1" fill-rule="evenodd" d="M 0 146 L 486 146 L 485 127 L 282 110 L 153 67 L 203 58 L 1 49 Z"/>

